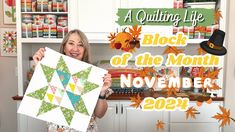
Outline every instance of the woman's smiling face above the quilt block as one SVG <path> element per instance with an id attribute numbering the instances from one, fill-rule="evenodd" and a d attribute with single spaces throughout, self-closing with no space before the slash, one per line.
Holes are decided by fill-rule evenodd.
<path id="1" fill-rule="evenodd" d="M 74 59 L 82 60 L 84 54 L 84 45 L 81 37 L 77 33 L 70 35 L 68 42 L 65 44 L 64 53 Z"/>

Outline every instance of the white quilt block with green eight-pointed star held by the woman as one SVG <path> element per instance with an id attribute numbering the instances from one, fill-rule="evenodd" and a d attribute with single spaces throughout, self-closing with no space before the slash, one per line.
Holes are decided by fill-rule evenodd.
<path id="1" fill-rule="evenodd" d="M 18 113 L 86 131 L 106 70 L 46 48 Z"/>

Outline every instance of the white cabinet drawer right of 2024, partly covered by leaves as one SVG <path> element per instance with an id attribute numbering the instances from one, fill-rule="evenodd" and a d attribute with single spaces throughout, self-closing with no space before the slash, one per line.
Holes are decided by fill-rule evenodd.
<path id="1" fill-rule="evenodd" d="M 219 105 L 222 105 L 222 102 L 203 103 L 201 107 L 198 107 L 196 102 L 190 102 L 189 107 L 193 106 L 198 110 L 197 114 L 195 114 L 196 119 L 190 117 L 186 119 L 185 112 L 173 111 L 170 112 L 170 122 L 217 122 L 212 116 L 220 112 Z"/>

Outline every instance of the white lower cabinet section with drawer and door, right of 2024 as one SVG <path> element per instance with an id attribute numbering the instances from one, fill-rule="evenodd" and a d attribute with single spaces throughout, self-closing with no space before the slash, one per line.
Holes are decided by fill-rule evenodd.
<path id="1" fill-rule="evenodd" d="M 203 103 L 198 108 L 195 102 L 190 102 L 189 107 L 193 106 L 198 110 L 196 119 L 186 119 L 185 112 L 170 112 L 170 132 L 220 132 L 218 121 L 212 118 L 220 111 L 219 105 L 222 102 Z"/>

